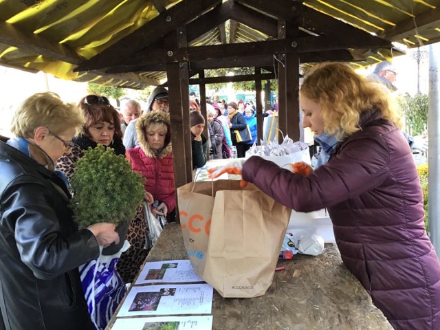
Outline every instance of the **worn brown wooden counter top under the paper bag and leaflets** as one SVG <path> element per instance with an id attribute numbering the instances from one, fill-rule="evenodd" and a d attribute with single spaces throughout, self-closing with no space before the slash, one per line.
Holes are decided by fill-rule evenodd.
<path id="1" fill-rule="evenodd" d="M 188 256 L 179 224 L 168 223 L 146 262 L 177 259 Z M 278 261 L 278 266 L 286 269 L 275 272 L 264 296 L 222 298 L 214 290 L 212 329 L 393 329 L 344 267 L 335 246 L 325 248 L 320 256 L 296 254 L 293 260 Z M 107 329 L 114 322 L 115 316 Z"/>

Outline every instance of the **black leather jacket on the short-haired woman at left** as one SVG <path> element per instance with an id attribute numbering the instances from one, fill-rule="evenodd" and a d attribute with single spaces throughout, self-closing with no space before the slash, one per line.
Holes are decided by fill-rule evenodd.
<path id="1" fill-rule="evenodd" d="M 0 329 L 94 329 L 78 266 L 99 247 L 69 199 L 56 174 L 0 142 Z"/>

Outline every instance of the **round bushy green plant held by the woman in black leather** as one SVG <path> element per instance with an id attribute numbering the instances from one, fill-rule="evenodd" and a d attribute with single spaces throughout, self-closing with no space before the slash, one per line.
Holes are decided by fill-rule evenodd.
<path id="1" fill-rule="evenodd" d="M 118 225 L 135 217 L 144 198 L 144 178 L 122 155 L 98 144 L 76 163 L 71 179 L 74 217 L 82 227 L 105 221 Z"/>

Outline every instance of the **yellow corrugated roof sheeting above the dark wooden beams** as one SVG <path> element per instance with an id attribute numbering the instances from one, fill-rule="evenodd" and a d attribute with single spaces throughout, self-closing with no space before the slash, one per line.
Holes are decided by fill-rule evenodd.
<path id="1" fill-rule="evenodd" d="M 137 89 L 158 85 L 166 79 L 165 72 L 108 74 L 105 70 L 74 72 L 74 68 L 104 50 L 108 51 L 116 42 L 144 25 L 148 27 L 148 23 L 160 12 L 186 1 L 0 0 L 0 65 L 101 85 Z M 237 2 L 255 9 L 247 4 L 248 1 Z M 304 1 L 304 5 L 408 47 L 440 40 L 440 0 L 309 0 Z M 257 12 L 274 18 L 274 15 L 261 10 Z M 199 16 L 201 14 L 203 12 Z M 188 45 L 219 45 L 222 39 L 235 43 L 274 39 L 274 36 L 259 31 L 255 26 L 241 22 L 235 24 L 229 19 L 226 21 L 226 25 L 222 23 L 197 36 L 188 41 Z M 222 38 L 224 26 L 233 24 L 234 30 L 226 30 L 228 37 L 223 35 Z M 234 35 L 229 35 L 230 32 Z M 139 43 L 142 42 L 139 40 Z M 358 65 L 382 61 L 395 54 L 393 50 L 350 52 L 354 58 L 366 58 Z"/>

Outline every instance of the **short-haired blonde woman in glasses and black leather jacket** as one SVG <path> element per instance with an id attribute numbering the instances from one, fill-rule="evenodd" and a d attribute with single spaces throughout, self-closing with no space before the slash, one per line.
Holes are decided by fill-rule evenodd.
<path id="1" fill-rule="evenodd" d="M 78 266 L 119 236 L 111 223 L 78 230 L 55 170 L 81 124 L 74 104 L 35 94 L 14 114 L 16 137 L 0 142 L 0 329 L 95 329 Z"/>

